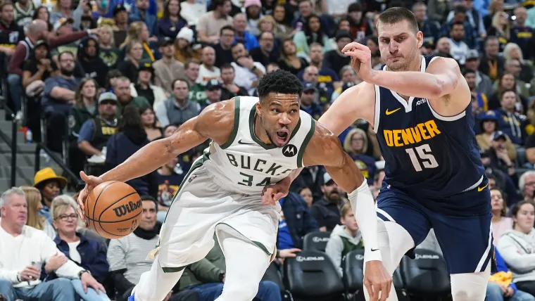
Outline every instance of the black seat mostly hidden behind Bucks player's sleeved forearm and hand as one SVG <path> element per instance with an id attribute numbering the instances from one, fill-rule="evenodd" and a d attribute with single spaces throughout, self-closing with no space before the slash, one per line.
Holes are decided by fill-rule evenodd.
<path id="1" fill-rule="evenodd" d="M 344 271 L 344 286 L 346 286 L 346 293 L 360 293 L 364 285 L 364 250 L 355 250 L 348 252 L 342 262 L 342 270 Z M 403 300 L 401 297 L 405 296 L 405 286 L 403 285 L 403 278 L 401 277 L 401 267 L 398 267 L 392 275 L 394 281 L 394 288 L 398 294 L 398 300 Z"/>

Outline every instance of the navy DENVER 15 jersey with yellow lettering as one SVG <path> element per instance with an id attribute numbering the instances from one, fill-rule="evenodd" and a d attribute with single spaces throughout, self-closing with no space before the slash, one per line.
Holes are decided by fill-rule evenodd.
<path id="1" fill-rule="evenodd" d="M 432 58 L 422 56 L 421 72 Z M 405 101 L 396 92 L 378 86 L 375 95 L 374 132 L 386 162 L 386 184 L 429 208 L 468 214 L 488 211 L 486 198 L 453 198 L 486 185 L 470 101 L 459 115 L 444 117 L 434 112 L 425 98 Z"/>

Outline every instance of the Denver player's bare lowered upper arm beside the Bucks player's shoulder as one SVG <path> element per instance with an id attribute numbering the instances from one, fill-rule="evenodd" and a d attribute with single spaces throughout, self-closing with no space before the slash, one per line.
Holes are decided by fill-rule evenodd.
<path id="1" fill-rule="evenodd" d="M 362 82 L 338 96 L 318 122 L 338 136 L 360 118 L 372 123 L 375 114 L 374 104 L 373 85 Z"/>

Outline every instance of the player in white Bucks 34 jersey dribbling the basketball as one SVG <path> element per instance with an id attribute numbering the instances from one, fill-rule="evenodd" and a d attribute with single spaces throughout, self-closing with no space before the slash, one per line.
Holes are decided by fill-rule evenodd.
<path id="1" fill-rule="evenodd" d="M 275 257 L 280 205 L 263 205 L 263 188 L 291 181 L 303 166 L 325 165 L 348 192 L 367 253 L 365 282 L 373 300 L 386 300 L 391 276 L 382 266 L 377 214 L 363 175 L 339 140 L 299 110 L 302 85 L 291 73 L 265 75 L 258 96 L 213 103 L 167 139 L 153 141 L 101 177 L 87 177 L 78 203 L 103 181 L 128 181 L 211 139 L 180 185 L 160 231 L 151 271 L 144 273 L 129 300 L 161 301 L 184 267 L 206 256 L 215 232 L 225 255 L 225 286 L 218 301 L 253 300 L 258 283 Z M 83 214 L 81 214 L 82 216 Z"/>

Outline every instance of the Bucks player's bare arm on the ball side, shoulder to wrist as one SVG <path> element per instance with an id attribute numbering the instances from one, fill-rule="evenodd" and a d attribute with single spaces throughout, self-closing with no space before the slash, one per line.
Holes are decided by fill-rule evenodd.
<path id="1" fill-rule="evenodd" d="M 174 134 L 147 144 L 101 178 L 104 181 L 129 181 L 153 172 L 206 139 L 223 144 L 232 132 L 233 122 L 234 101 L 208 105 L 199 116 L 184 122 Z"/>

